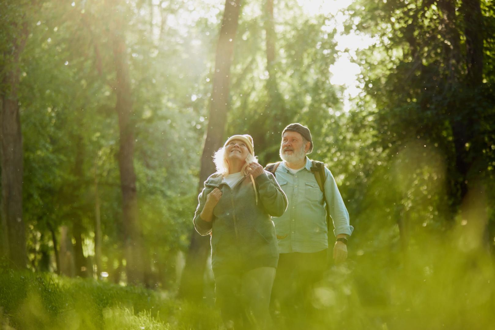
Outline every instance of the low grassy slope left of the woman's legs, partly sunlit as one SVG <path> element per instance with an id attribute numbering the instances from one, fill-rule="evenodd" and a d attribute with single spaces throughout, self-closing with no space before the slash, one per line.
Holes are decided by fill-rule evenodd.
<path id="1" fill-rule="evenodd" d="M 0 271 L 1 329 L 216 329 L 211 306 L 136 286 Z"/>

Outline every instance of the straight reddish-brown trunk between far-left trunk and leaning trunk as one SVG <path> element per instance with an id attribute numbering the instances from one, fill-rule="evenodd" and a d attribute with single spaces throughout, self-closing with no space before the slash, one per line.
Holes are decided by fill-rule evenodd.
<path id="1" fill-rule="evenodd" d="M 138 224 L 138 194 L 136 174 L 134 171 L 134 123 L 131 99 L 129 65 L 122 24 L 117 24 L 113 35 L 113 56 L 117 81 L 115 93 L 117 102 L 115 110 L 119 120 L 119 170 L 122 189 L 124 249 L 126 272 L 129 283 L 143 282 L 141 231 Z"/>

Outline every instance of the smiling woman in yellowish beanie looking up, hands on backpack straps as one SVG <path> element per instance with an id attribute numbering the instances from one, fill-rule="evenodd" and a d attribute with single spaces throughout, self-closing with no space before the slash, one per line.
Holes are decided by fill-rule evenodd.
<path id="1" fill-rule="evenodd" d="M 194 225 L 211 235 L 216 303 L 228 328 L 242 322 L 263 328 L 279 257 L 271 217 L 285 212 L 287 197 L 257 163 L 249 135 L 230 137 L 214 162 L 217 172 L 199 194 Z"/>

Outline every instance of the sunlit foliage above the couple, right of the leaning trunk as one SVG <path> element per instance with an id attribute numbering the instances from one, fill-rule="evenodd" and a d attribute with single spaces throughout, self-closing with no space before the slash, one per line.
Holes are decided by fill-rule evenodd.
<path id="1" fill-rule="evenodd" d="M 296 1 L 276 8 L 274 73 L 267 71 L 266 34 L 259 2 L 243 9 L 233 64 L 227 135 L 249 133 L 261 164 L 279 159 L 281 132 L 287 124 L 309 125 L 315 137 L 330 120 L 329 109 L 341 108 L 338 87 L 330 85 L 335 62 L 335 29 L 324 16 L 307 17 Z"/>

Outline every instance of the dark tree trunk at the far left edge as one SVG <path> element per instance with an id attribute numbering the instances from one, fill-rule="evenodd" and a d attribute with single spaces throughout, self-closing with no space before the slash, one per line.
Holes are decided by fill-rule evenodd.
<path id="1" fill-rule="evenodd" d="M 8 67 L 0 67 L 0 73 L 3 73 L 0 112 L 2 254 L 19 269 L 26 268 L 27 252 L 22 219 L 23 152 L 17 92 L 20 55 L 27 36 L 27 23 L 24 23 L 19 37 L 14 37 L 12 52 L 3 54 L 3 58 L 11 62 L 7 63 Z"/>

